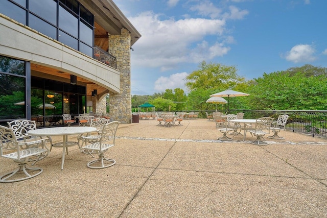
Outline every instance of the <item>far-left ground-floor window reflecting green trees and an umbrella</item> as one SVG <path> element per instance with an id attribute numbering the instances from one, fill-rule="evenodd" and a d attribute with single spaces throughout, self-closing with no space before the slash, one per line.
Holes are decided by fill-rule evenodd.
<path id="1" fill-rule="evenodd" d="M 0 119 L 25 118 L 25 62 L 0 56 Z"/>

